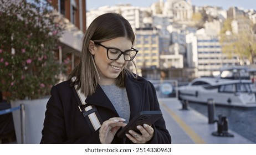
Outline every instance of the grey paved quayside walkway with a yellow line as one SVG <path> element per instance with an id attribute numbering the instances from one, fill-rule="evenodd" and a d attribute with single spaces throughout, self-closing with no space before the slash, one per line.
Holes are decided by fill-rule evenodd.
<path id="1" fill-rule="evenodd" d="M 212 136 L 212 132 L 217 131 L 217 123 L 209 124 L 208 117 L 192 108 L 181 110 L 177 99 L 158 100 L 173 144 L 254 144 L 232 130 L 228 132 L 234 137 Z"/>

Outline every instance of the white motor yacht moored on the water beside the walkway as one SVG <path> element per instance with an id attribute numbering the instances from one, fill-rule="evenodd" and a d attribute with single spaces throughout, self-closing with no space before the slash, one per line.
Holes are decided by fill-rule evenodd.
<path id="1" fill-rule="evenodd" d="M 256 88 L 252 80 L 231 80 L 216 77 L 199 77 L 188 85 L 178 87 L 180 100 L 216 105 L 256 107 Z"/>

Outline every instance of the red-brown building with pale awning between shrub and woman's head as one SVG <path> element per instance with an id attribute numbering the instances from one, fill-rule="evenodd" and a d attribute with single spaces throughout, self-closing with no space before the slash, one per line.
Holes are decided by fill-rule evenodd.
<path id="1" fill-rule="evenodd" d="M 60 63 L 66 64 L 68 74 L 79 63 L 81 42 L 86 31 L 86 1 L 52 0 L 51 3 L 58 16 L 64 18 L 65 30 L 59 39 L 58 57 Z"/>

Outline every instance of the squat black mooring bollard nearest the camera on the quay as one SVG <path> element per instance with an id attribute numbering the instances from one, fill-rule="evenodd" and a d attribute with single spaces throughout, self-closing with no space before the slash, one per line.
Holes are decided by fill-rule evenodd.
<path id="1" fill-rule="evenodd" d="M 234 137 L 231 133 L 228 133 L 228 119 L 226 116 L 218 115 L 217 132 L 212 132 L 213 136 L 219 137 Z"/>

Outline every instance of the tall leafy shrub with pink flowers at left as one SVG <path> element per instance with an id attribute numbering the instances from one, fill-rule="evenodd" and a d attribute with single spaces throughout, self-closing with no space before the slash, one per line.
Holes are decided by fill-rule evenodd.
<path id="1" fill-rule="evenodd" d="M 64 68 L 54 51 L 63 27 L 55 19 L 47 1 L 0 1 L 0 90 L 7 100 L 49 95 L 58 82 Z"/>

